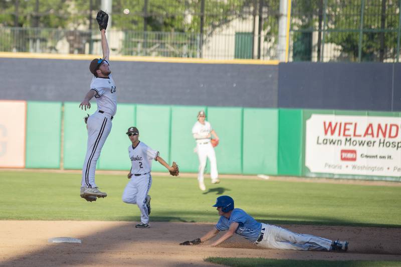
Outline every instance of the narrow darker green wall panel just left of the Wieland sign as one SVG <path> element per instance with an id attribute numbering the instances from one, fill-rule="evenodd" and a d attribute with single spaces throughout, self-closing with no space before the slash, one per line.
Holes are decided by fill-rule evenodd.
<path id="1" fill-rule="evenodd" d="M 303 165 L 301 109 L 279 109 L 278 174 L 300 176 Z"/>

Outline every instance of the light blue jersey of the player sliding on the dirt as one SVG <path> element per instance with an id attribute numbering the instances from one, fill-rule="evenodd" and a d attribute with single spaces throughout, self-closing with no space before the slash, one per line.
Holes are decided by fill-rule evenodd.
<path id="1" fill-rule="evenodd" d="M 226 231 L 230 228 L 232 222 L 238 222 L 239 226 L 235 231 L 239 235 L 255 242 L 259 238 L 260 231 L 262 230 L 262 223 L 256 221 L 252 216 L 241 208 L 234 208 L 231 212 L 230 218 L 220 216 L 216 224 L 219 231 Z"/>

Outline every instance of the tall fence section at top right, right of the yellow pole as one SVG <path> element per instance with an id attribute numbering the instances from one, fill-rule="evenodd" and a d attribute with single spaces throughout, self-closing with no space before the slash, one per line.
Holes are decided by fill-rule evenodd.
<path id="1" fill-rule="evenodd" d="M 398 62 L 401 1 L 292 1 L 290 61 Z"/>

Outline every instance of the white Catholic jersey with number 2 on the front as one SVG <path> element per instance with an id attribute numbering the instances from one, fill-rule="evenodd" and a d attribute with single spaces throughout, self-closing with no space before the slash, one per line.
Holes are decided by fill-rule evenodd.
<path id="1" fill-rule="evenodd" d="M 132 144 L 128 146 L 128 154 L 132 164 L 131 173 L 143 174 L 150 172 L 152 169 L 152 159 L 156 160 L 159 152 L 139 141 L 135 148 L 132 147 Z"/>

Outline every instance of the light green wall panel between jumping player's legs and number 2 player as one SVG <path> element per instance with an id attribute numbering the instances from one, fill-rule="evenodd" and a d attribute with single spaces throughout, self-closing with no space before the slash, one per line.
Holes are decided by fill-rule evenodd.
<path id="1" fill-rule="evenodd" d="M 135 125 L 135 107 L 134 104 L 118 104 L 112 120 L 113 126 L 97 161 L 97 168 L 126 169 L 127 173 L 131 169 L 131 160 L 128 156 L 128 145 L 131 141 L 126 132 L 128 127 Z"/>

